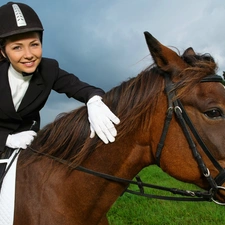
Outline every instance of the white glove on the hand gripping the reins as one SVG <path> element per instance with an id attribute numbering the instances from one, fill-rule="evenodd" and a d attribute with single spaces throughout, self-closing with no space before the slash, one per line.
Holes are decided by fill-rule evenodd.
<path id="1" fill-rule="evenodd" d="M 34 140 L 37 133 L 33 130 L 23 131 L 17 134 L 9 134 L 6 140 L 6 146 L 10 148 L 26 149 Z"/>

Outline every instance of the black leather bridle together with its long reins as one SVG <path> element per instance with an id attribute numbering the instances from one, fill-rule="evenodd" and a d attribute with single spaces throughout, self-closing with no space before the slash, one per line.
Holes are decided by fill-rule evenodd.
<path id="1" fill-rule="evenodd" d="M 210 75 L 210 76 L 203 78 L 201 80 L 201 82 L 222 82 L 222 78 L 218 75 Z M 166 139 L 166 135 L 167 135 L 169 126 L 170 126 L 170 122 L 173 117 L 173 113 L 175 113 L 175 116 L 178 119 L 180 126 L 184 132 L 184 135 L 188 141 L 190 149 L 192 150 L 193 156 L 195 157 L 202 174 L 209 182 L 209 185 L 211 187 L 209 191 L 190 191 L 190 190 L 180 190 L 177 188 L 167 188 L 167 187 L 162 187 L 162 186 L 158 186 L 158 185 L 144 183 L 144 182 L 142 182 L 142 180 L 140 179 L 139 176 L 135 177 L 136 180 L 129 180 L 129 179 L 124 179 L 124 178 L 116 177 L 113 175 L 101 173 L 98 171 L 94 171 L 94 170 L 91 170 L 91 169 L 88 169 L 88 168 L 85 168 L 82 166 L 73 167 L 72 165 L 69 164 L 69 162 L 67 160 L 62 160 L 57 157 L 48 155 L 46 153 L 41 153 L 41 152 L 31 148 L 30 146 L 28 148 L 37 154 L 47 156 L 59 163 L 67 165 L 68 167 L 70 167 L 72 169 L 76 169 L 76 170 L 79 170 L 79 171 L 82 171 L 82 172 L 85 172 L 85 173 L 88 173 L 88 174 L 91 174 L 94 176 L 98 176 L 98 177 L 101 177 L 101 178 L 104 178 L 104 179 L 107 179 L 107 180 L 110 180 L 113 182 L 124 183 L 127 185 L 127 188 L 124 192 L 128 192 L 128 193 L 139 195 L 139 196 L 144 196 L 144 197 L 148 197 L 148 198 L 162 199 L 162 200 L 213 201 L 216 204 L 225 205 L 225 203 L 218 202 L 217 200 L 214 199 L 216 193 L 220 189 L 225 190 L 225 188 L 221 186 L 225 182 L 225 169 L 212 156 L 212 154 L 210 153 L 210 151 L 208 150 L 208 148 L 202 141 L 201 137 L 199 136 L 198 132 L 196 131 L 195 127 L 193 126 L 190 118 L 188 117 L 181 101 L 179 99 L 174 100 L 176 93 L 175 93 L 175 90 L 173 89 L 173 83 L 169 77 L 165 77 L 165 92 L 166 92 L 167 100 L 168 100 L 168 109 L 167 109 L 167 113 L 166 113 L 166 118 L 165 118 L 165 122 L 164 122 L 163 131 L 161 134 L 161 138 L 160 138 L 159 144 L 157 146 L 157 151 L 156 151 L 157 164 L 158 164 L 158 166 L 160 166 L 160 157 L 161 157 L 162 150 L 164 147 L 164 142 Z M 197 140 L 198 144 L 201 146 L 201 148 L 203 149 L 203 151 L 205 152 L 207 157 L 211 160 L 211 162 L 213 163 L 215 168 L 217 168 L 217 170 L 219 171 L 219 174 L 217 175 L 217 177 L 215 179 L 212 178 L 209 169 L 206 167 L 205 163 L 203 162 L 202 157 L 199 154 L 199 152 L 195 146 L 195 143 L 191 137 L 189 130 L 192 132 L 192 134 L 195 137 L 195 139 Z M 139 191 L 130 190 L 128 188 L 130 184 L 137 185 L 139 188 Z M 145 193 L 144 188 L 152 188 L 152 189 L 158 189 L 158 190 L 162 190 L 162 191 L 169 191 L 173 194 L 178 194 L 178 195 L 182 195 L 185 197 L 152 195 L 152 194 Z"/>

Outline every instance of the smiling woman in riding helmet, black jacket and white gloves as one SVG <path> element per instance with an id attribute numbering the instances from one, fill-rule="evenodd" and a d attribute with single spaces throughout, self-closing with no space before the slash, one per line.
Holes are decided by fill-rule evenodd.
<path id="1" fill-rule="evenodd" d="M 6 21 L 7 20 L 7 21 Z M 101 101 L 104 91 L 42 57 L 42 23 L 26 4 L 0 7 L 0 151 L 26 149 L 40 128 L 39 112 L 51 90 L 87 104 L 90 137 L 113 142 L 119 119 Z M 29 130 L 33 121 L 35 131 Z"/>

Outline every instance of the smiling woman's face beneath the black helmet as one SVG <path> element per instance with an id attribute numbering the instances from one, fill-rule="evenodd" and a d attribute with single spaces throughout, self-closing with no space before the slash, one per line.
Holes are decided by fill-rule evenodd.
<path id="1" fill-rule="evenodd" d="M 7 38 L 5 57 L 19 73 L 33 73 L 42 58 L 42 44 L 37 32 L 14 35 Z"/>

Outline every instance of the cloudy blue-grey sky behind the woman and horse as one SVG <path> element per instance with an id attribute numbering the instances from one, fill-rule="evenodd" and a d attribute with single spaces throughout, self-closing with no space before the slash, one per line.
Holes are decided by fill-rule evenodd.
<path id="1" fill-rule="evenodd" d="M 0 0 L 1 5 L 8 1 Z M 136 76 L 151 61 L 144 31 L 181 53 L 210 53 L 225 70 L 224 0 L 21 0 L 44 26 L 43 56 L 105 91 Z M 80 103 L 55 93 L 42 126 Z"/>

